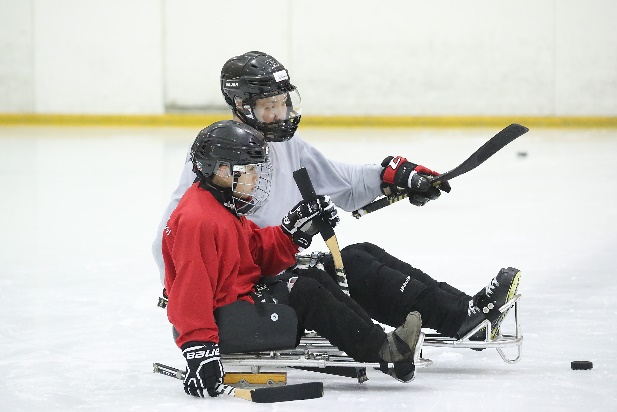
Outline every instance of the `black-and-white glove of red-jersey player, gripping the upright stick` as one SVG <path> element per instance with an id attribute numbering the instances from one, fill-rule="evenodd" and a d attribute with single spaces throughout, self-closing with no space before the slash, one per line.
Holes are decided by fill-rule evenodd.
<path id="1" fill-rule="evenodd" d="M 313 200 L 301 201 L 283 218 L 281 228 L 291 236 L 296 245 L 306 249 L 318 232 L 314 219 L 322 219 L 331 227 L 338 224 L 339 217 L 329 196 L 317 196 Z"/>

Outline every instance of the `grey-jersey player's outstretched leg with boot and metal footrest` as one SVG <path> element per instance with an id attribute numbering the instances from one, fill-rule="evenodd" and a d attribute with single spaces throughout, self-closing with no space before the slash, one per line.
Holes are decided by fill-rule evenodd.
<path id="1" fill-rule="evenodd" d="M 424 346 L 495 348 L 507 363 L 520 359 L 523 338 L 518 322 L 518 269 L 501 269 L 486 287 L 469 296 L 373 244 L 350 245 L 341 253 L 351 297 L 376 321 L 392 325 L 402 313 L 418 311 L 422 326 L 437 332 L 425 336 Z M 321 262 L 334 276 L 332 259 L 327 254 L 300 257 L 299 262 Z M 511 308 L 515 330 L 502 333 L 501 324 Z M 508 357 L 502 350 L 508 347 L 517 349 L 515 357 Z"/>

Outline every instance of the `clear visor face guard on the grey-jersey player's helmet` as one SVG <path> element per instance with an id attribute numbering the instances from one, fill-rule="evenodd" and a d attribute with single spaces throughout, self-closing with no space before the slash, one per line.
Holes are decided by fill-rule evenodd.
<path id="1" fill-rule="evenodd" d="M 258 101 L 282 95 L 286 95 L 285 119 L 264 121 L 260 116 L 261 110 L 257 107 Z M 243 102 L 242 108 L 236 108 L 235 112 L 244 123 L 263 133 L 266 141 L 284 142 L 291 139 L 298 129 L 302 117 L 302 99 L 298 90 L 293 87 L 286 93 L 270 93 L 253 97 Z"/>

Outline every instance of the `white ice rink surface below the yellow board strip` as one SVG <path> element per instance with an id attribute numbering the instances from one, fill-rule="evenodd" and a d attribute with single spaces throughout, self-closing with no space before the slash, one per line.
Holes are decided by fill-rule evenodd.
<path id="1" fill-rule="evenodd" d="M 403 154 L 445 172 L 498 131 L 300 135 L 333 159 Z M 2 411 L 616 410 L 617 130 L 531 130 L 423 208 L 342 213 L 341 246 L 371 241 L 470 294 L 501 267 L 521 269 L 519 363 L 425 348 L 433 365 L 409 384 L 290 371 L 289 383 L 323 381 L 324 397 L 270 405 L 193 399 L 152 373 L 153 362 L 184 367 L 156 307 L 150 245 L 197 132 L 0 128 Z M 594 368 L 572 371 L 573 360 Z"/>

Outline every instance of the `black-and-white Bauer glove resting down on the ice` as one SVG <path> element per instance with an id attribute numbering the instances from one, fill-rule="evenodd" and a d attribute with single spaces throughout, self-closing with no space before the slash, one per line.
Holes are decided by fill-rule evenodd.
<path id="1" fill-rule="evenodd" d="M 204 397 L 204 389 L 210 396 L 217 396 L 216 388 L 223 383 L 223 365 L 219 345 L 213 342 L 187 342 L 182 345 L 186 359 L 184 392 L 198 398 Z"/>

